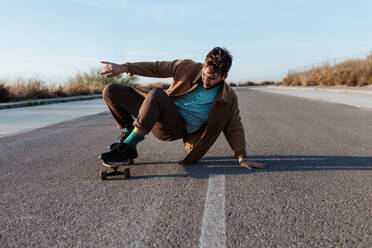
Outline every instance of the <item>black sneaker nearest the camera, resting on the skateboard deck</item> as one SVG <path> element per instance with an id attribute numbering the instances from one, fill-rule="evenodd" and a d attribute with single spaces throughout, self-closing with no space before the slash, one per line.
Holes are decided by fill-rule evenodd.
<path id="1" fill-rule="evenodd" d="M 120 143 L 116 149 L 102 153 L 99 158 L 104 162 L 126 162 L 138 157 L 137 149 Z"/>

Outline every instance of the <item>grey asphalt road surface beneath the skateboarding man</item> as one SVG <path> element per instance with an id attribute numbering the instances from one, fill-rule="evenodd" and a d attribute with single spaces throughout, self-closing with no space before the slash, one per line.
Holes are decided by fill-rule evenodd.
<path id="1" fill-rule="evenodd" d="M 238 91 L 247 151 L 196 165 L 149 135 L 131 179 L 100 181 L 109 114 L 0 138 L 0 247 L 371 247 L 372 112 Z"/>

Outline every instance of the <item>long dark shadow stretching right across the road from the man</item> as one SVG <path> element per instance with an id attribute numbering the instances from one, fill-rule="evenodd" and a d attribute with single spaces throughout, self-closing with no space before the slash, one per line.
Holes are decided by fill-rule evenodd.
<path id="1" fill-rule="evenodd" d="M 249 173 L 270 173 L 281 171 L 334 171 L 334 170 L 372 170 L 372 157 L 350 157 L 350 156 L 250 156 L 252 161 L 268 165 L 266 169 L 248 170 L 240 168 L 237 160 L 233 157 L 205 157 L 198 163 L 183 165 L 186 173 L 144 175 L 135 176 L 131 179 L 150 178 L 208 178 L 210 175 L 241 175 Z M 142 162 L 139 166 L 154 164 L 174 164 L 175 161 L 164 162 Z M 182 166 L 182 165 L 181 165 Z M 119 178 L 118 178 L 119 179 Z M 119 179 L 120 180 L 120 179 Z"/>

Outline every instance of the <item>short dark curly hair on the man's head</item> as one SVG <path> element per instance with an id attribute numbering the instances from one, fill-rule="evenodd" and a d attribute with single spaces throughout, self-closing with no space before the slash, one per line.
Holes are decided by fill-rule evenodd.
<path id="1" fill-rule="evenodd" d="M 207 54 L 204 66 L 212 73 L 224 76 L 229 72 L 232 64 L 232 56 L 226 48 L 215 47 Z"/>

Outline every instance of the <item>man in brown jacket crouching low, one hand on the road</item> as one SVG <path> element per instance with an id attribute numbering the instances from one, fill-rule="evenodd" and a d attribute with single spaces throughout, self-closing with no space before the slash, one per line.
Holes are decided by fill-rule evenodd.
<path id="1" fill-rule="evenodd" d="M 241 167 L 265 168 L 264 164 L 246 159 L 238 99 L 225 82 L 232 64 L 232 56 L 226 49 L 212 49 L 204 64 L 192 60 L 102 63 L 105 67 L 100 74 L 107 78 L 121 73 L 173 77 L 166 91 L 146 92 L 118 84 L 105 87 L 103 98 L 123 133 L 119 142 L 109 146 L 110 151 L 101 154 L 103 161 L 137 158 L 136 145 L 151 131 L 164 141 L 182 138 L 187 155 L 181 163 L 195 163 L 223 132 Z"/>

